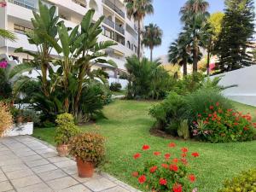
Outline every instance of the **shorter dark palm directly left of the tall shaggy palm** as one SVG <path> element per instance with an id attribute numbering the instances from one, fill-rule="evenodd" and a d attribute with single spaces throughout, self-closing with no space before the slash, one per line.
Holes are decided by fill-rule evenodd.
<path id="1" fill-rule="evenodd" d="M 173 65 L 179 65 L 183 67 L 183 75 L 188 74 L 187 64 L 192 62 L 189 49 L 189 38 L 183 35 L 179 35 L 179 38 L 173 42 L 169 48 L 169 62 Z"/>

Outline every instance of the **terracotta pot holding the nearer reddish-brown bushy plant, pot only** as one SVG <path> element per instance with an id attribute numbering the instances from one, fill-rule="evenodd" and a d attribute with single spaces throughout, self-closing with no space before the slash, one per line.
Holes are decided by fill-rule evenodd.
<path id="1" fill-rule="evenodd" d="M 94 166 L 91 162 L 84 162 L 80 158 L 76 158 L 79 177 L 92 177 L 94 173 Z"/>

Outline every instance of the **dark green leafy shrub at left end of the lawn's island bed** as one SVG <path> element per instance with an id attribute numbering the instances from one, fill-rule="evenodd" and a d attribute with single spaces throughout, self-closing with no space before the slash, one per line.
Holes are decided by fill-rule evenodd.
<path id="1" fill-rule="evenodd" d="M 177 128 L 186 117 L 185 107 L 184 97 L 171 92 L 163 102 L 150 108 L 149 114 L 157 120 L 157 128 L 177 136 Z"/>

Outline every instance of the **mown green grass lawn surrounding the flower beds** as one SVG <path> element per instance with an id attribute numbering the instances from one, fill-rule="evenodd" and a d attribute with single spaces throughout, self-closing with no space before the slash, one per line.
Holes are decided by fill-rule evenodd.
<path id="1" fill-rule="evenodd" d="M 143 144 L 149 144 L 152 151 L 171 152 L 188 147 L 190 152 L 199 152 L 200 158 L 192 161 L 191 167 L 195 170 L 197 182 L 195 186 L 199 191 L 214 192 L 225 178 L 256 167 L 256 141 L 248 143 L 197 143 L 191 141 L 168 140 L 154 137 L 149 129 L 154 119 L 148 116 L 148 108 L 154 102 L 115 101 L 104 108 L 108 119 L 99 120 L 95 125 L 82 127 L 84 131 L 97 131 L 107 137 L 108 162 L 102 170 L 137 186 L 137 181 L 131 177 L 137 161 L 131 156 L 139 151 Z M 242 112 L 253 114 L 256 120 L 256 108 L 234 102 L 236 108 Z M 34 137 L 52 143 L 53 129 L 36 129 Z M 177 148 L 167 148 L 167 143 L 177 143 Z M 150 154 L 151 156 L 151 154 Z M 143 156 L 144 159 L 148 155 Z"/>

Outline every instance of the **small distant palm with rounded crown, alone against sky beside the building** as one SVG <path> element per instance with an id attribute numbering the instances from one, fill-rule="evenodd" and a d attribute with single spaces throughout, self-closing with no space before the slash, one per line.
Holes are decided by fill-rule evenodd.
<path id="1" fill-rule="evenodd" d="M 150 61 L 153 61 L 153 49 L 162 43 L 162 37 L 163 32 L 159 26 L 153 23 L 145 26 L 143 44 L 150 49 Z"/>

